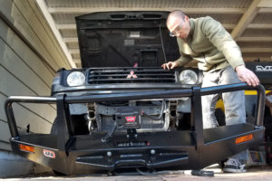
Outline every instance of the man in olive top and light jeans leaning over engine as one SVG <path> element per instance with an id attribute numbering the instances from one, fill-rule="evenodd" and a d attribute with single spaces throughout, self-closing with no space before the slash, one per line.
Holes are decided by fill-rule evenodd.
<path id="1" fill-rule="evenodd" d="M 174 69 L 191 60 L 198 61 L 199 70 L 204 72 L 202 87 L 247 82 L 257 86 L 259 80 L 249 71 L 243 61 L 238 44 L 224 29 L 222 24 L 211 17 L 189 18 L 176 10 L 169 14 L 167 27 L 170 36 L 176 36 L 180 48 L 180 59 L 161 65 L 163 69 Z M 218 94 L 202 96 L 203 129 L 218 126 L 215 105 Z M 226 124 L 246 122 L 244 91 L 222 94 Z M 247 151 L 243 151 L 225 162 L 225 172 L 245 172 Z"/>

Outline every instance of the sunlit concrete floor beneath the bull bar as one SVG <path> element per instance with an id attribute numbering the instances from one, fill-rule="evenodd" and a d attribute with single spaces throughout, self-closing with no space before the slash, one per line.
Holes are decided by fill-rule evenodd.
<path id="1" fill-rule="evenodd" d="M 40 176 L 27 176 L 16 178 L 5 178 L 0 180 L 92 180 L 92 181 L 193 181 L 193 180 L 246 180 L 246 181 L 260 181 L 272 180 L 272 167 L 251 167 L 248 168 L 247 173 L 226 174 L 222 173 L 219 168 L 212 169 L 215 175 L 209 176 L 191 176 L 190 171 L 178 171 L 168 174 L 154 175 L 154 176 L 52 176 L 50 174 Z"/>

